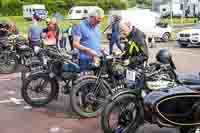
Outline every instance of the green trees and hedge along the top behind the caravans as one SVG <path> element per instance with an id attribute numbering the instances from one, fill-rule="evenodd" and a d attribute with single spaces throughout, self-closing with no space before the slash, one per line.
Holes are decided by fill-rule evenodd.
<path id="1" fill-rule="evenodd" d="M 66 14 L 68 9 L 75 5 L 98 5 L 108 11 L 110 8 L 133 7 L 138 1 L 149 6 L 152 0 L 0 0 L 0 15 L 22 15 L 23 4 L 45 4 L 50 14 L 56 11 Z"/>

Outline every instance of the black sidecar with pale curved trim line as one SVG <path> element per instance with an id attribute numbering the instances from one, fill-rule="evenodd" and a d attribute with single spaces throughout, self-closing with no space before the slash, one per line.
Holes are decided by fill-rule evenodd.
<path id="1" fill-rule="evenodd" d="M 200 88 L 179 86 L 144 98 L 145 117 L 161 127 L 200 126 Z"/>

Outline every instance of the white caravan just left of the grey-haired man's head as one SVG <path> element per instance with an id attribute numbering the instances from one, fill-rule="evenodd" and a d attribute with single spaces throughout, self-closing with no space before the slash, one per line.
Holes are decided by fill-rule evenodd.
<path id="1" fill-rule="evenodd" d="M 88 13 L 97 6 L 75 6 L 69 10 L 69 19 L 84 19 L 88 17 Z M 99 7 L 98 7 L 99 8 Z"/>

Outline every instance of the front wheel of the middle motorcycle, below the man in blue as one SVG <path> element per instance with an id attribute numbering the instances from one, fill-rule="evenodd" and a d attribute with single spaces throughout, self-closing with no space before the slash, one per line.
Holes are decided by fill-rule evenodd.
<path id="1" fill-rule="evenodd" d="M 86 78 L 77 83 L 70 92 L 71 105 L 74 111 L 81 117 L 96 117 L 112 95 L 108 83 L 97 79 Z"/>

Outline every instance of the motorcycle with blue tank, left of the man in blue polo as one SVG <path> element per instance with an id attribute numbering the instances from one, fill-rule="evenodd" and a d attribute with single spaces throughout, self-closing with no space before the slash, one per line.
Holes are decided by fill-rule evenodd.
<path id="1" fill-rule="evenodd" d="M 57 99 L 60 82 L 64 83 L 61 88 L 62 93 L 68 94 L 74 84 L 87 78 L 78 78 L 80 68 L 72 62 L 73 55 L 49 50 L 46 50 L 45 53 L 51 58 L 47 60 L 46 69 L 29 75 L 21 89 L 23 99 L 33 107 L 45 106 Z"/>

